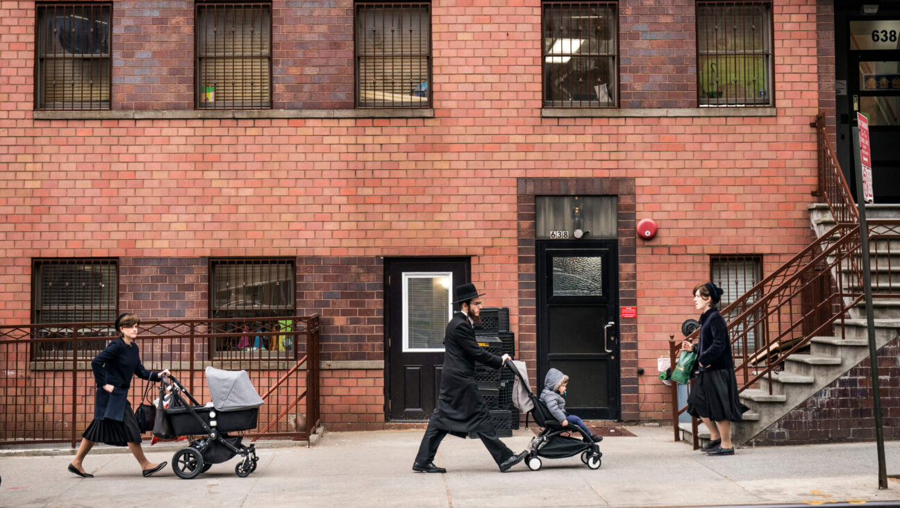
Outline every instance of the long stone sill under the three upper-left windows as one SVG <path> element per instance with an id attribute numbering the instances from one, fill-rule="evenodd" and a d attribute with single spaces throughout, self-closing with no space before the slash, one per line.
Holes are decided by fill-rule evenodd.
<path id="1" fill-rule="evenodd" d="M 211 110 L 211 111 L 34 111 L 34 120 L 206 120 L 293 118 L 434 118 L 433 109 Z"/>

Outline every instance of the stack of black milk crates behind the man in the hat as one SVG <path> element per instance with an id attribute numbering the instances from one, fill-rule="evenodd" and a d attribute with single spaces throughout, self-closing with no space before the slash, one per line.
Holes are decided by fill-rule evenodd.
<path id="1" fill-rule="evenodd" d="M 475 324 L 478 344 L 497 356 L 515 356 L 515 335 L 509 331 L 509 308 L 485 307 L 481 317 L 482 322 Z M 493 369 L 481 363 L 475 365 L 478 391 L 500 437 L 509 437 L 513 429 L 518 429 L 518 410 L 512 405 L 512 379 L 513 373 L 509 369 Z"/>

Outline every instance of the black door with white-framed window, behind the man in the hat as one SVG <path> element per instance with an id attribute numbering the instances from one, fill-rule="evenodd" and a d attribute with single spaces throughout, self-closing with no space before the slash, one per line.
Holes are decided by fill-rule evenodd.
<path id="1" fill-rule="evenodd" d="M 469 281 L 469 259 L 391 259 L 384 268 L 387 414 L 391 420 L 428 420 L 441 388 L 451 295 Z"/>

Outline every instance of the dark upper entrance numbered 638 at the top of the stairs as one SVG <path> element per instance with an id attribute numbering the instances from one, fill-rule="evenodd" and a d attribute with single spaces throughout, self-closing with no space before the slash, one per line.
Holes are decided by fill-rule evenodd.
<path id="1" fill-rule="evenodd" d="M 873 3 L 875 4 L 875 3 Z M 853 127 L 857 111 L 869 117 L 872 153 L 872 183 L 876 203 L 900 202 L 900 3 L 887 4 L 878 13 L 862 15 L 855 5 L 854 15 L 840 20 L 845 25 L 847 95 L 838 104 L 839 142 L 847 156 L 842 164 L 856 170 Z M 843 106 L 843 107 L 842 107 Z M 845 114 L 842 111 L 847 111 Z M 855 176 L 845 172 L 856 196 Z"/>

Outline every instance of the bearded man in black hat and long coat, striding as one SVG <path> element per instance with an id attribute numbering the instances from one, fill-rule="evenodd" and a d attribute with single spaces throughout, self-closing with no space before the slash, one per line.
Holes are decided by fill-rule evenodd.
<path id="1" fill-rule="evenodd" d="M 434 464 L 441 440 L 447 433 L 464 438 L 469 432 L 475 432 L 491 452 L 500 471 L 506 471 L 525 459 L 528 452 L 526 450 L 513 454 L 497 437 L 497 431 L 491 425 L 488 410 L 485 409 L 475 384 L 475 361 L 500 369 L 510 360 L 509 354 L 502 357 L 491 354 L 475 341 L 473 317 L 478 318 L 482 312 L 483 293 L 478 294 L 472 283 L 458 286 L 454 293 L 453 303 L 461 305 L 460 312 L 447 324 L 444 335 L 441 394 L 437 399 L 435 412 L 428 421 L 428 430 L 422 436 L 412 470 L 419 473 L 446 473 L 445 468 L 438 468 Z"/>

